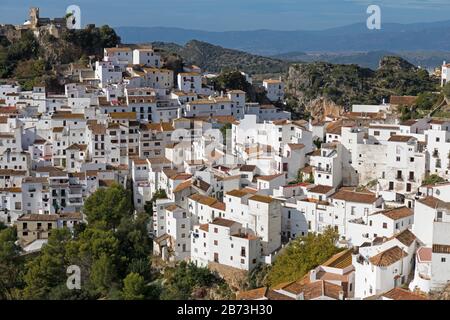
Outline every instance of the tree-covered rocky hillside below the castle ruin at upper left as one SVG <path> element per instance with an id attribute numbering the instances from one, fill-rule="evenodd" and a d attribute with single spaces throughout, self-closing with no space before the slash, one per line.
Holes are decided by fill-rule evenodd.
<path id="1" fill-rule="evenodd" d="M 119 43 L 109 26 L 67 30 L 60 38 L 48 33 L 35 37 L 28 31 L 13 43 L 0 36 L 0 79 L 17 80 L 25 90 L 45 84 L 49 91 L 60 91 L 59 66 L 80 60 L 86 63 L 88 56 L 100 57 L 104 47 Z"/>

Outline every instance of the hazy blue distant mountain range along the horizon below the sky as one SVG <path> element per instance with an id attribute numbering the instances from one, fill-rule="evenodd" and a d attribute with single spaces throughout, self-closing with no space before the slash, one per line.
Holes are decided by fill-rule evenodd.
<path id="1" fill-rule="evenodd" d="M 125 42 L 174 42 L 191 39 L 260 55 L 286 52 L 450 51 L 450 21 L 382 24 L 369 30 L 365 23 L 321 31 L 209 32 L 164 27 L 117 27 Z"/>

